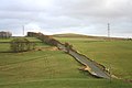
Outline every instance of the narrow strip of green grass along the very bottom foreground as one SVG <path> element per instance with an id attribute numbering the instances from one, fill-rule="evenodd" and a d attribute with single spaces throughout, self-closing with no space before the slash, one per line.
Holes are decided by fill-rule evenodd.
<path id="1" fill-rule="evenodd" d="M 43 79 L 38 81 L 1 85 L 1 88 L 131 88 L 132 84 L 120 80 L 97 79 Z"/>

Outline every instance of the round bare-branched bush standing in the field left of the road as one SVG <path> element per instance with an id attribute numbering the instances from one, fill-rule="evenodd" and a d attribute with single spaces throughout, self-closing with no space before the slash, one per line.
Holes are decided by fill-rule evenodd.
<path id="1" fill-rule="evenodd" d="M 34 50 L 34 43 L 31 43 L 29 40 L 22 37 L 12 40 L 10 45 L 11 51 L 14 53 L 31 51 Z"/>

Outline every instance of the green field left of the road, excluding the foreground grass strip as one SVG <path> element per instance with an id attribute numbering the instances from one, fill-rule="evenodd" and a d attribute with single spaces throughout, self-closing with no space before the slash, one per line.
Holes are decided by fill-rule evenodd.
<path id="1" fill-rule="evenodd" d="M 3 45 L 0 48 L 8 47 Z M 37 46 L 50 47 L 45 44 Z M 89 78 L 78 68 L 79 64 L 61 51 L 0 53 L 0 85 L 55 78 Z"/>

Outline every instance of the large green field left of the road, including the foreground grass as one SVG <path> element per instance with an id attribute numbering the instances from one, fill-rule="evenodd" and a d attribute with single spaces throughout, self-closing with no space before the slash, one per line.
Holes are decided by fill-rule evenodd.
<path id="1" fill-rule="evenodd" d="M 31 37 L 29 40 L 37 41 Z M 50 47 L 42 43 L 37 46 Z M 7 46 L 0 45 L 0 48 Z M 87 73 L 78 70 L 79 67 L 73 57 L 61 51 L 0 53 L 0 88 L 130 88 L 132 86 L 120 80 L 110 84 L 106 79 L 92 78 Z"/>

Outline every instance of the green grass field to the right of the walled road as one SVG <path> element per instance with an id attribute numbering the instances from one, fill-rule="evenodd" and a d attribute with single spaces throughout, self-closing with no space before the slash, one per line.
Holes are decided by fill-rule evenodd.
<path id="1" fill-rule="evenodd" d="M 89 58 L 111 68 L 120 78 L 132 79 L 132 41 L 105 41 L 84 37 L 56 37 L 69 42 Z"/>

